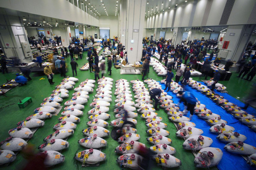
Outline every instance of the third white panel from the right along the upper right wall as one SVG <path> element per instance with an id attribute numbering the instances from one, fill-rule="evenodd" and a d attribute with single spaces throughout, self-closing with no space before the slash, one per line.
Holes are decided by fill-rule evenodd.
<path id="1" fill-rule="evenodd" d="M 207 0 L 199 0 L 196 5 L 195 16 L 192 26 L 200 26 L 203 20 Z"/>

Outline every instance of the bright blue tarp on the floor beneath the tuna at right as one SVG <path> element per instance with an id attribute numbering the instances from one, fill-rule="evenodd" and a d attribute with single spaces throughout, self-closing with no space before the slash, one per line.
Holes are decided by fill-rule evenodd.
<path id="1" fill-rule="evenodd" d="M 203 82 L 202 82 L 203 83 Z M 162 88 L 165 88 L 165 85 L 162 84 Z M 244 143 L 247 143 L 249 145 L 252 145 L 256 147 L 256 132 L 252 131 L 248 126 L 242 124 L 239 122 L 233 115 L 227 113 L 225 109 L 221 108 L 219 105 L 215 104 L 210 98 L 206 97 L 205 95 L 201 94 L 201 92 L 197 91 L 196 89 L 193 89 L 189 86 L 186 87 L 187 91 L 193 92 L 193 94 L 196 96 L 196 98 L 201 101 L 201 104 L 206 105 L 207 109 L 210 109 L 212 113 L 219 114 L 221 118 L 228 122 L 228 125 L 233 126 L 235 128 L 235 132 L 244 134 L 247 139 L 244 141 Z M 176 97 L 172 92 L 167 92 L 170 96 L 173 96 L 173 102 L 178 103 L 179 98 Z M 225 99 L 228 99 L 230 102 L 237 104 L 238 106 L 243 106 L 243 103 L 234 97 L 231 97 L 228 94 L 220 94 L 221 96 L 225 97 Z M 180 110 L 183 111 L 184 106 L 183 104 L 180 105 Z M 247 111 L 248 113 L 255 113 L 255 109 L 249 108 Z M 189 113 L 188 115 L 189 116 Z M 203 119 L 197 117 L 196 115 L 193 116 L 193 119 L 191 122 L 194 122 L 196 124 L 196 128 L 202 129 L 204 131 L 203 135 L 206 137 L 212 138 L 213 143 L 211 147 L 220 148 L 223 151 L 223 157 L 221 159 L 221 162 L 217 166 L 221 170 L 226 169 L 232 169 L 232 170 L 243 170 L 243 169 L 255 169 L 251 167 L 250 165 L 246 164 L 246 160 L 241 156 L 237 154 L 232 154 L 231 152 L 226 151 L 224 149 L 225 145 L 227 143 L 219 141 L 217 137 L 217 133 L 211 133 L 209 129 L 211 126 L 207 124 Z"/>

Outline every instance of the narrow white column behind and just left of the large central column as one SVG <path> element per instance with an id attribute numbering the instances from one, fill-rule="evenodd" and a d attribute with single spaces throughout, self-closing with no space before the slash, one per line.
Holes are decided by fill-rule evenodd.
<path id="1" fill-rule="evenodd" d="M 125 46 L 125 37 L 126 37 L 126 10 L 127 8 L 127 0 L 123 0 L 120 3 L 120 17 L 119 17 L 119 23 L 120 23 L 120 35 L 119 35 L 119 40 Z"/>

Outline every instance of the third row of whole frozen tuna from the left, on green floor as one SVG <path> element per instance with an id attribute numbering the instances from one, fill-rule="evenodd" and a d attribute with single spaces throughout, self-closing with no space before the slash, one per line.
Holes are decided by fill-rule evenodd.
<path id="1" fill-rule="evenodd" d="M 107 112 L 112 99 L 106 94 L 111 94 L 112 81 L 113 79 L 105 77 L 98 80 L 97 94 L 90 104 L 92 109 L 87 112 L 90 115 L 90 121 L 86 123 L 89 127 L 82 131 L 86 137 L 78 140 L 79 145 L 87 149 L 78 152 L 74 157 L 83 164 L 92 165 L 106 160 L 106 154 L 101 152 L 101 148 L 107 146 L 107 141 L 103 138 L 109 135 L 106 129 L 109 123 L 105 120 L 110 118 Z"/>

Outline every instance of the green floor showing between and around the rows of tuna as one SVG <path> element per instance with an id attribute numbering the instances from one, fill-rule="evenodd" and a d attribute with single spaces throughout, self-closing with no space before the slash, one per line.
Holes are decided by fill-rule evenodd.
<path id="1" fill-rule="evenodd" d="M 84 53 L 84 56 L 87 56 L 86 52 Z M 84 63 L 86 63 L 86 59 L 84 57 L 83 60 L 78 60 L 78 65 L 81 67 Z M 67 60 L 67 63 L 69 65 L 70 59 Z M 70 65 L 69 65 L 70 68 Z M 110 76 L 111 78 L 114 79 L 114 81 L 118 79 L 127 79 L 127 80 L 135 80 L 135 79 L 141 79 L 141 75 L 121 75 L 119 74 L 120 70 L 116 70 L 113 67 L 113 72 L 112 75 Z M 71 70 L 68 70 L 67 75 L 72 75 Z M 233 74 L 231 79 L 229 81 L 221 81 L 220 83 L 224 84 L 227 86 L 227 91 L 231 96 L 234 97 L 240 97 L 240 99 L 245 96 L 246 90 L 249 90 L 249 87 L 251 86 L 252 82 L 248 82 L 242 79 L 236 78 L 237 74 Z M 3 84 L 6 79 L 14 79 L 15 78 L 15 73 L 9 73 L 9 74 L 2 74 L 0 76 L 0 84 Z M 23 87 L 16 87 L 12 89 L 11 91 L 7 92 L 5 96 L 0 97 L 0 114 L 1 114 L 1 124 L 0 124 L 0 129 L 2 133 L 0 134 L 0 141 L 6 139 L 9 137 L 9 134 L 7 133 L 10 129 L 17 127 L 16 123 L 19 121 L 22 121 L 24 118 L 27 116 L 33 114 L 33 111 L 35 108 L 39 107 L 40 104 L 43 102 L 43 99 L 46 97 L 49 97 L 51 95 L 51 91 L 54 89 L 54 87 L 59 84 L 59 82 L 62 80 L 59 74 L 54 75 L 54 85 L 50 85 L 49 82 L 47 81 L 45 75 L 43 74 L 38 74 L 38 73 L 31 73 L 31 78 L 33 80 L 29 81 L 27 86 Z M 41 79 L 44 78 L 44 79 Z M 78 86 L 78 84 L 85 79 L 94 79 L 94 74 L 90 73 L 89 71 L 80 71 L 78 70 L 77 73 L 77 78 L 79 79 L 79 82 L 76 83 L 75 87 Z M 153 78 L 157 81 L 162 80 L 161 77 L 158 77 L 156 73 L 153 71 L 152 67 L 150 67 L 150 74 L 149 78 Z M 198 80 L 198 78 L 194 78 L 195 80 Z M 246 89 L 245 89 L 246 87 Z M 115 91 L 115 87 L 113 87 L 112 91 Z M 71 98 L 71 95 L 73 94 L 74 90 L 69 91 L 69 97 L 65 100 L 62 101 L 61 105 L 63 103 Z M 88 120 L 88 115 L 86 114 L 87 111 L 89 111 L 90 106 L 89 104 L 92 102 L 93 96 L 95 95 L 95 89 L 92 94 L 90 94 L 90 99 L 89 102 L 85 105 L 84 109 L 84 116 L 80 117 L 81 122 L 77 124 L 77 128 L 75 130 L 74 135 L 68 138 L 68 142 L 70 143 L 69 148 L 66 150 L 63 150 L 61 154 L 65 155 L 65 162 L 63 164 L 56 165 L 52 167 L 51 169 L 83 169 L 81 167 L 81 163 L 77 162 L 73 157 L 74 155 L 79 152 L 84 150 L 82 146 L 80 146 L 77 141 L 79 139 L 84 138 L 84 135 L 82 133 L 82 130 L 87 128 L 86 122 Z M 133 94 L 134 95 L 134 94 Z M 33 103 L 30 103 L 26 108 L 24 109 L 19 109 L 17 103 L 19 102 L 19 99 L 23 99 L 25 97 L 32 97 Z M 112 121 L 115 119 L 114 113 L 111 112 L 114 110 L 114 100 L 115 96 L 113 95 L 113 101 L 110 106 L 110 115 L 111 118 L 110 120 L 107 120 L 108 122 Z M 63 109 L 61 110 L 61 112 Z M 161 109 L 161 111 L 158 111 L 159 116 L 163 117 L 164 123 L 167 123 L 168 127 L 166 130 L 170 131 L 170 136 L 169 138 L 172 139 L 172 144 L 171 146 L 176 149 L 176 154 L 174 155 L 175 157 L 179 158 L 182 162 L 182 165 L 180 168 L 176 169 L 196 169 L 194 167 L 194 156 L 191 154 L 190 151 L 186 151 L 182 148 L 182 143 L 183 139 L 179 139 L 175 137 L 175 127 L 173 123 L 171 123 L 167 119 L 167 115 L 164 113 L 164 111 Z M 61 114 L 58 116 L 52 117 L 50 120 L 45 121 L 45 125 L 42 128 L 39 128 L 36 133 L 34 134 L 34 137 L 29 140 L 29 143 L 34 145 L 36 148 L 43 143 L 43 139 L 47 137 L 47 135 L 53 133 L 53 125 L 59 123 L 57 118 L 59 118 Z M 150 144 L 146 141 L 146 138 L 149 137 L 146 134 L 146 126 L 145 126 L 145 121 L 142 120 L 142 118 L 137 117 L 138 125 L 137 125 L 137 130 L 138 133 L 140 134 L 140 142 L 145 143 L 148 147 Z M 113 127 L 108 127 L 108 130 L 112 130 Z M 100 167 L 90 167 L 86 169 L 120 169 L 119 165 L 116 163 L 116 158 L 118 157 L 117 154 L 115 154 L 114 149 L 119 145 L 118 142 L 114 141 L 111 139 L 111 137 L 106 138 L 108 145 L 106 148 L 102 149 L 102 152 L 105 152 L 107 155 L 107 160 L 106 162 L 103 162 L 100 164 Z M 26 160 L 22 157 L 21 154 L 18 154 L 17 159 L 10 164 L 8 167 L 4 167 L 1 169 L 21 169 L 24 165 L 26 164 Z M 161 167 L 158 167 L 154 165 L 152 169 L 162 169 Z M 211 169 L 217 169 L 217 168 L 211 168 Z"/>

